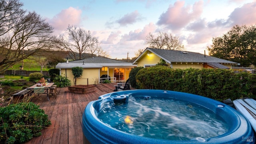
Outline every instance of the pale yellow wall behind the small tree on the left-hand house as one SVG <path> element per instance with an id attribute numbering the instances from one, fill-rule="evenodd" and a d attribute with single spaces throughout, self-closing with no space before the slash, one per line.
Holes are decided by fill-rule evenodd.
<path id="1" fill-rule="evenodd" d="M 71 68 L 61 69 L 61 75 L 66 76 L 71 81 L 71 86 L 74 86 L 74 81 L 73 81 L 74 76 L 72 74 Z M 87 78 L 88 78 L 88 84 L 94 84 L 94 81 L 99 78 L 99 69 L 98 68 L 84 69 L 82 77 L 76 80 L 76 85 L 79 85 L 79 84 L 87 85 Z"/>

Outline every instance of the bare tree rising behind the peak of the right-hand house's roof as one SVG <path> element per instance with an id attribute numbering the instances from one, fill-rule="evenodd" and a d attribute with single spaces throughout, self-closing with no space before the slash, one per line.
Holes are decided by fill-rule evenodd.
<path id="1" fill-rule="evenodd" d="M 150 48 L 158 48 L 165 50 L 182 50 L 184 46 L 180 44 L 179 38 L 172 36 L 172 34 L 167 34 L 164 32 L 159 32 L 156 38 L 152 33 L 146 36 L 146 44 Z"/>

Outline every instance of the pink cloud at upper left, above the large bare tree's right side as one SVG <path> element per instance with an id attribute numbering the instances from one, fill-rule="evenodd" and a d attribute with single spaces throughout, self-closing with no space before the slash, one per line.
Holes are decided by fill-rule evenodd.
<path id="1" fill-rule="evenodd" d="M 68 9 L 62 10 L 52 19 L 48 19 L 47 22 L 54 27 L 54 30 L 62 31 L 65 30 L 68 25 L 78 25 L 81 22 L 82 10 L 69 7 Z"/>

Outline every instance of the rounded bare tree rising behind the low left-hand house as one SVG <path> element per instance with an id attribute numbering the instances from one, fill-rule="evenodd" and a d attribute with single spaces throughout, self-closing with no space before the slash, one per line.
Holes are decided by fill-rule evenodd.
<path id="1" fill-rule="evenodd" d="M 73 60 L 82 59 L 82 53 L 94 56 L 101 50 L 98 38 L 92 36 L 90 31 L 76 26 L 69 25 L 66 33 L 60 37 L 60 41 L 60 46 L 69 52 L 68 54 Z M 78 52 L 79 58 L 76 57 L 76 52 Z"/>

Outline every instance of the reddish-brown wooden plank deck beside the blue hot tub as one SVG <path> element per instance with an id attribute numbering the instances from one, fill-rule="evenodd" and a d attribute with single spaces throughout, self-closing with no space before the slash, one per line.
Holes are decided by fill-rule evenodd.
<path id="1" fill-rule="evenodd" d="M 32 102 L 38 104 L 48 115 L 52 125 L 42 130 L 42 135 L 33 138 L 26 144 L 82 144 L 82 114 L 86 105 L 97 100 L 102 94 L 113 92 L 112 84 L 98 84 L 96 90 L 88 94 L 68 92 L 68 87 L 57 88 L 57 99 L 47 100 L 46 94 L 33 98 Z"/>

